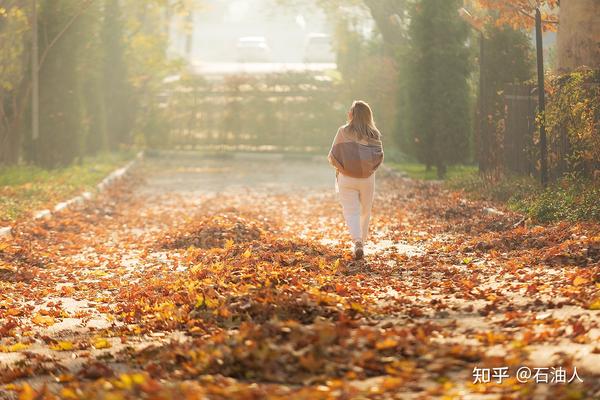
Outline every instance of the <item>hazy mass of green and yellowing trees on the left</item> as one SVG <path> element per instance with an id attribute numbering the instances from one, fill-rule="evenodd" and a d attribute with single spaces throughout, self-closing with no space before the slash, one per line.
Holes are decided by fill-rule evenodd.
<path id="1" fill-rule="evenodd" d="M 40 137 L 31 138 L 31 26 L 22 2 L 0 0 L 0 164 L 21 149 L 45 168 L 131 146 L 156 114 L 169 17 L 191 0 L 39 2 Z M 29 5 L 27 6 L 29 7 Z"/>

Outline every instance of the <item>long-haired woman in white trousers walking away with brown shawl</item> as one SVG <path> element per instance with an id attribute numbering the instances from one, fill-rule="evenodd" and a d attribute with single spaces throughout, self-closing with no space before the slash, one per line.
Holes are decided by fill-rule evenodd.
<path id="1" fill-rule="evenodd" d="M 375 170 L 383 162 L 381 134 L 367 103 L 352 103 L 348 123 L 338 129 L 328 158 L 336 169 L 336 191 L 358 260 L 364 255 L 363 245 L 369 234 Z"/>

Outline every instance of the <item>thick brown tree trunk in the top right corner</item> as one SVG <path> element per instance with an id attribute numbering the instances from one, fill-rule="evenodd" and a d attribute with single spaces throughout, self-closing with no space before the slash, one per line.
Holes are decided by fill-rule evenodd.
<path id="1" fill-rule="evenodd" d="M 558 28 L 558 68 L 600 68 L 600 1 L 562 0 Z"/>

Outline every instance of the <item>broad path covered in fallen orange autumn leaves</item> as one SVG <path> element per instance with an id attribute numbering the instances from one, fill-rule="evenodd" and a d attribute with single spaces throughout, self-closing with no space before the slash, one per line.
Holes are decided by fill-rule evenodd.
<path id="1" fill-rule="evenodd" d="M 600 396 L 600 227 L 377 179 L 364 262 L 316 159 L 150 159 L 19 224 L 0 243 L 0 398 Z M 473 384 L 475 367 L 508 376 Z M 535 383 L 574 368 L 583 383 Z"/>

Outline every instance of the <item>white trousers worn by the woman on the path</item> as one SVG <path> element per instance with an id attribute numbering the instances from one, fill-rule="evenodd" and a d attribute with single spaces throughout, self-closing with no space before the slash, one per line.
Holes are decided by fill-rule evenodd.
<path id="1" fill-rule="evenodd" d="M 336 186 L 352 241 L 366 242 L 375 194 L 375 174 L 368 178 L 339 174 Z"/>

